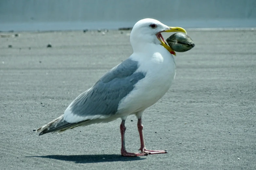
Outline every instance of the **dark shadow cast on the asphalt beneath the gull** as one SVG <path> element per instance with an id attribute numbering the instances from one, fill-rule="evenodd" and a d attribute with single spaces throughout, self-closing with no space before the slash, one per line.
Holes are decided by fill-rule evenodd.
<path id="1" fill-rule="evenodd" d="M 116 162 L 116 161 L 138 161 L 145 158 L 140 157 L 124 157 L 121 155 L 46 155 L 46 156 L 28 156 L 38 158 L 58 159 L 62 161 L 72 161 L 75 163 L 100 163 L 100 162 Z"/>

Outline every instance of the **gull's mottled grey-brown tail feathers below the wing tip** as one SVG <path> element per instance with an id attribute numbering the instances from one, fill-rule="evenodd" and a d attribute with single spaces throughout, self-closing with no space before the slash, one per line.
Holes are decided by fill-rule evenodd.
<path id="1" fill-rule="evenodd" d="M 64 115 L 61 115 L 59 118 L 57 118 L 57 119 L 49 122 L 48 124 L 38 128 L 36 131 L 40 132 L 39 136 L 43 135 L 43 134 L 50 133 L 50 132 L 52 132 L 52 133 L 60 133 L 60 132 L 63 132 L 65 130 L 77 127 L 82 122 L 85 122 L 85 121 L 87 121 L 87 120 L 80 121 L 80 122 L 77 122 L 77 123 L 69 123 L 69 122 L 64 120 Z"/>

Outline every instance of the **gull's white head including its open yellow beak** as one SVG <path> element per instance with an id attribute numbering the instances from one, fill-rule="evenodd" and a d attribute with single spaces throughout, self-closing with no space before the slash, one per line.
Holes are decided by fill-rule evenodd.
<path id="1" fill-rule="evenodd" d="M 136 50 L 140 44 L 161 44 L 171 54 L 176 55 L 175 51 L 165 43 L 161 35 L 162 32 L 183 32 L 186 34 L 183 28 L 169 27 L 160 21 L 146 18 L 138 21 L 131 30 L 130 42 L 133 50 Z"/>

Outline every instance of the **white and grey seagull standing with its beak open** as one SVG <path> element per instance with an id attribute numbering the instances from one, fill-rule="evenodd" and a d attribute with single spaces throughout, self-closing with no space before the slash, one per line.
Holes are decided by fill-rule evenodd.
<path id="1" fill-rule="evenodd" d="M 144 110 L 162 98 L 176 74 L 173 57 L 176 53 L 166 45 L 162 32 L 186 33 L 183 28 L 168 27 L 154 19 L 138 21 L 130 34 L 131 56 L 80 94 L 63 115 L 38 128 L 39 135 L 121 118 L 122 156 L 167 153 L 166 150 L 146 149 L 142 125 Z M 125 148 L 125 121 L 129 115 L 136 115 L 138 119 L 141 153 L 127 152 Z"/>

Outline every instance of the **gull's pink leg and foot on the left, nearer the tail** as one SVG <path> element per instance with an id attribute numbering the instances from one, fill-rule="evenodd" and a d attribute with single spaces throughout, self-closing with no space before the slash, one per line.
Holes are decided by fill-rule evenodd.
<path id="1" fill-rule="evenodd" d="M 148 153 L 130 153 L 130 152 L 126 151 L 126 149 L 125 149 L 125 130 L 126 130 L 125 120 L 122 120 L 122 123 L 120 125 L 121 140 L 122 140 L 121 155 L 122 156 L 131 156 L 131 157 L 148 155 Z"/>

